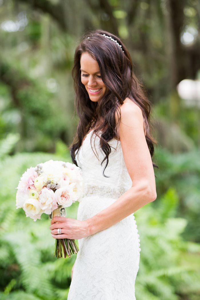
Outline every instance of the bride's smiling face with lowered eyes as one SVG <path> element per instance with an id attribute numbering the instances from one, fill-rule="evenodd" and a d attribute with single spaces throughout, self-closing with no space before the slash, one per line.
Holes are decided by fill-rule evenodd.
<path id="1" fill-rule="evenodd" d="M 97 102 L 107 91 L 101 79 L 97 61 L 88 52 L 83 52 L 80 58 L 81 82 L 85 85 L 91 101 Z"/>

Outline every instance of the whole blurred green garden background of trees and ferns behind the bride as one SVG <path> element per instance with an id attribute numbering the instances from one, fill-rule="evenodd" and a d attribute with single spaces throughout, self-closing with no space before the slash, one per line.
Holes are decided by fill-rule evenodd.
<path id="1" fill-rule="evenodd" d="M 135 212 L 142 249 L 136 299 L 198 300 L 198 0 L 0 0 L 0 298 L 67 299 L 76 255 L 56 259 L 47 216 L 26 218 L 15 196 L 28 167 L 71 161 L 73 55 L 83 33 L 97 28 L 119 35 L 130 51 L 158 141 L 157 200 Z"/>

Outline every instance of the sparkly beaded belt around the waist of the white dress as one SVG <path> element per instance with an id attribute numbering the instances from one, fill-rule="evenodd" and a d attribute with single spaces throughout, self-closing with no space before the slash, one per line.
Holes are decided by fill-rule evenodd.
<path id="1" fill-rule="evenodd" d="M 84 189 L 83 197 L 98 195 L 100 197 L 119 198 L 126 192 L 124 187 L 112 188 L 106 185 L 87 184 Z"/>

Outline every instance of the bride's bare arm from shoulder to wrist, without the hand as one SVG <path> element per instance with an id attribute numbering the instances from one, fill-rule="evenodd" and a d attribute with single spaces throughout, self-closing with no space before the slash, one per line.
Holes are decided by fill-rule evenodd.
<path id="1" fill-rule="evenodd" d="M 121 106 L 119 136 L 133 184 L 112 205 L 87 219 L 88 235 L 114 225 L 157 197 L 154 169 L 143 124 L 142 110 L 135 103 L 126 102 Z"/>

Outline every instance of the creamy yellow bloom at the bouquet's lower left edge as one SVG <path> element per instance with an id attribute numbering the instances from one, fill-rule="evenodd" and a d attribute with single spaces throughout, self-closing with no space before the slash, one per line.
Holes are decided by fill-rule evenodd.
<path id="1" fill-rule="evenodd" d="M 29 198 L 25 201 L 23 209 L 26 213 L 26 217 L 31 217 L 34 221 L 40 219 L 43 213 L 39 201 L 33 198 Z"/>

